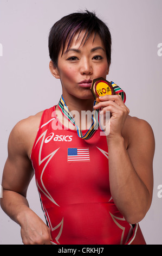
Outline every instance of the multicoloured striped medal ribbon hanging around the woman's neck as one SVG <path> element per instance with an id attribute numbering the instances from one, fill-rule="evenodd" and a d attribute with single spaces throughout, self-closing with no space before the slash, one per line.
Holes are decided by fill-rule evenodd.
<path id="1" fill-rule="evenodd" d="M 117 86 L 114 82 L 112 82 L 112 86 L 113 86 L 113 89 L 114 89 L 115 93 L 121 95 L 122 101 L 124 101 L 124 103 L 125 103 L 125 101 L 126 101 L 126 94 L 125 94 L 125 92 L 119 86 Z M 93 106 L 95 106 L 97 103 L 98 102 L 94 101 Z M 93 114 L 92 114 L 93 122 L 92 122 L 92 125 L 90 126 L 88 131 L 85 133 L 85 135 L 82 135 L 82 131 L 75 124 L 75 120 L 74 120 L 72 114 L 69 112 L 69 109 L 68 109 L 68 107 L 67 107 L 67 105 L 66 105 L 62 95 L 61 95 L 58 107 L 59 107 L 61 113 L 63 114 L 63 116 L 66 117 L 70 121 L 70 123 L 72 123 L 76 127 L 77 135 L 80 138 L 82 138 L 82 139 L 89 139 L 89 138 L 91 138 L 93 136 L 94 132 L 96 130 L 98 130 L 98 127 L 99 127 L 99 121 L 98 121 L 99 109 L 96 109 L 96 110 L 93 109 Z"/>

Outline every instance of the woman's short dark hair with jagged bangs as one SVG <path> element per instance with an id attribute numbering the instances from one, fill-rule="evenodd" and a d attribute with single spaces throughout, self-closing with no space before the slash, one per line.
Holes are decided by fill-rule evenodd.
<path id="1" fill-rule="evenodd" d="M 54 66 L 57 66 L 58 56 L 62 47 L 62 54 L 66 42 L 68 42 L 67 50 L 70 47 L 73 36 L 79 32 L 85 31 L 82 42 L 86 44 L 89 36 L 94 33 L 94 37 L 98 34 L 105 46 L 107 62 L 111 64 L 111 33 L 106 24 L 101 21 L 95 14 L 86 10 L 62 17 L 50 29 L 49 33 L 49 56 Z"/>

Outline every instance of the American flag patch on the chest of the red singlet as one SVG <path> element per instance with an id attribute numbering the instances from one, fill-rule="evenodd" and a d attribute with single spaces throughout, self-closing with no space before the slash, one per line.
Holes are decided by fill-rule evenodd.
<path id="1" fill-rule="evenodd" d="M 90 161 L 89 148 L 68 148 L 68 162 Z"/>

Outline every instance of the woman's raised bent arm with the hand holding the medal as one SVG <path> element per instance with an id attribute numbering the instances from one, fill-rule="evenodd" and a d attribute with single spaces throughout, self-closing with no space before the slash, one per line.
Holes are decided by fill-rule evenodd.
<path id="1" fill-rule="evenodd" d="M 152 201 L 153 132 L 146 121 L 128 116 L 120 96 L 100 100 L 95 108 L 112 114 L 107 135 L 111 194 L 121 214 L 134 224 L 144 218 Z"/>

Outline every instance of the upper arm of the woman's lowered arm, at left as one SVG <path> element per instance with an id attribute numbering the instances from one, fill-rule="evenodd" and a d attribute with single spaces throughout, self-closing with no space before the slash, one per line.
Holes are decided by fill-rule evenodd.
<path id="1" fill-rule="evenodd" d="M 25 141 L 20 127 L 15 127 L 9 137 L 8 158 L 5 162 L 2 187 L 26 196 L 34 171 L 25 153 Z"/>

